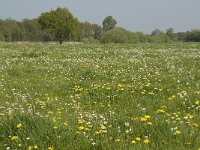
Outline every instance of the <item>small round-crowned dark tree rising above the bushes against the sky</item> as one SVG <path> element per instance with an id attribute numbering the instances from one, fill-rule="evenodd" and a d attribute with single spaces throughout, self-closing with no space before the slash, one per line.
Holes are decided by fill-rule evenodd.
<path id="1" fill-rule="evenodd" d="M 115 28 L 116 24 L 117 24 L 117 21 L 115 19 L 113 19 L 112 16 L 107 16 L 103 20 L 103 30 L 104 31 L 109 31 L 109 30 Z"/>

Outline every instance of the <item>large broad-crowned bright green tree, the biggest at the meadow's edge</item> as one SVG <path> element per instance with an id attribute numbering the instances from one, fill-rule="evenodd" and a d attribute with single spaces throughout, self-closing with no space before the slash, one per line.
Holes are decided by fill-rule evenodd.
<path id="1" fill-rule="evenodd" d="M 44 30 L 54 34 L 60 44 L 64 40 L 69 41 L 73 38 L 78 28 L 78 20 L 66 8 L 57 8 L 54 11 L 42 13 L 39 23 Z"/>

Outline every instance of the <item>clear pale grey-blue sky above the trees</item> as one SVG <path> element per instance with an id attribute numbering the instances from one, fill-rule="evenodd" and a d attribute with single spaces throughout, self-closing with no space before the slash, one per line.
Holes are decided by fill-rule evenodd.
<path id="1" fill-rule="evenodd" d="M 0 0 L 0 19 L 33 19 L 57 7 L 68 8 L 81 22 L 99 25 L 113 16 L 118 27 L 133 32 L 200 29 L 200 0 Z"/>

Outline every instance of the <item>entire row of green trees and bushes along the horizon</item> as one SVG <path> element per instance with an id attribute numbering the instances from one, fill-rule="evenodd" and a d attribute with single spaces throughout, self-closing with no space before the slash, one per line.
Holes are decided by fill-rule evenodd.
<path id="1" fill-rule="evenodd" d="M 0 19 L 0 41 L 80 41 L 84 43 L 166 43 L 200 42 L 200 30 L 174 33 L 173 28 L 165 32 L 155 29 L 151 34 L 130 32 L 116 27 L 117 21 L 107 16 L 102 26 L 79 22 L 66 8 L 57 8 L 42 13 L 35 19 L 16 21 Z"/>

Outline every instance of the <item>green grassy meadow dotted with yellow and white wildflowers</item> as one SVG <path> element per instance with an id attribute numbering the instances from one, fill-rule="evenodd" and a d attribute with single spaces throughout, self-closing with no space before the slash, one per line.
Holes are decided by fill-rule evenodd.
<path id="1" fill-rule="evenodd" d="M 0 149 L 200 149 L 200 44 L 0 45 Z"/>

